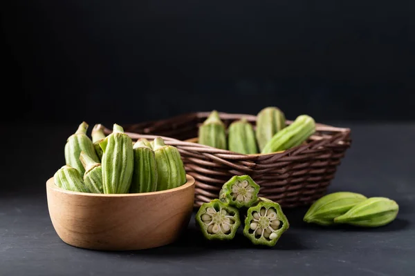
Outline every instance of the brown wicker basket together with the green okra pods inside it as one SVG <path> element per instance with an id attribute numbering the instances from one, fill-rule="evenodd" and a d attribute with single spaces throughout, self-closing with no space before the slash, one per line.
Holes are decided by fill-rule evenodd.
<path id="1" fill-rule="evenodd" d="M 350 129 L 308 115 L 287 120 L 267 107 L 257 115 L 195 112 L 126 127 L 135 139 L 160 135 L 181 152 L 196 179 L 195 207 L 219 197 L 234 175 L 249 175 L 259 196 L 282 207 L 310 205 L 326 194 L 351 144 Z"/>

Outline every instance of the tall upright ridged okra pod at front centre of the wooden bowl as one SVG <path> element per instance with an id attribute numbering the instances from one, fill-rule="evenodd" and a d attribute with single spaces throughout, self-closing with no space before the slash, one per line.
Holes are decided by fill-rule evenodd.
<path id="1" fill-rule="evenodd" d="M 129 192 L 133 176 L 133 142 L 124 129 L 114 124 L 113 132 L 101 141 L 102 186 L 105 194 Z"/>

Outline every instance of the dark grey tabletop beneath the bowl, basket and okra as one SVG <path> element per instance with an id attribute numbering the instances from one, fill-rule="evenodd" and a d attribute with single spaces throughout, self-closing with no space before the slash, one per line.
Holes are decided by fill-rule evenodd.
<path id="1" fill-rule="evenodd" d="M 414 275 L 415 125 L 340 126 L 352 129 L 353 144 L 329 192 L 395 199 L 393 223 L 322 228 L 302 222 L 306 208 L 284 209 L 291 228 L 274 248 L 255 248 L 241 233 L 205 242 L 192 217 L 176 243 L 121 253 L 64 244 L 50 222 L 46 179 L 64 163 L 77 126 L 3 126 L 0 275 Z"/>

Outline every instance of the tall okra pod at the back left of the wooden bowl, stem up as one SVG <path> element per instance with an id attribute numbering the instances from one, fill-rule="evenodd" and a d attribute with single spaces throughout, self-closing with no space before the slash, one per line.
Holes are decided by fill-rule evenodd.
<path id="1" fill-rule="evenodd" d="M 86 136 L 86 130 L 88 129 L 88 124 L 84 121 L 78 127 L 75 134 L 71 135 L 66 141 L 65 145 L 65 161 L 66 165 L 69 165 L 73 168 L 79 170 L 80 175 L 84 175 L 85 169 L 82 166 L 80 161 L 80 154 L 83 150 L 88 154 L 94 161 L 99 162 L 98 156 L 95 153 L 95 148 L 93 143 L 88 136 Z"/>

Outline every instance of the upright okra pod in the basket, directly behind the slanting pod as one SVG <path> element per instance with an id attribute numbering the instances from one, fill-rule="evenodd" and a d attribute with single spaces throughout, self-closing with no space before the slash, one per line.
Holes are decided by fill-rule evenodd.
<path id="1" fill-rule="evenodd" d="M 264 108 L 257 115 L 257 141 L 261 151 L 275 133 L 286 127 L 284 113 L 274 106 Z"/>

